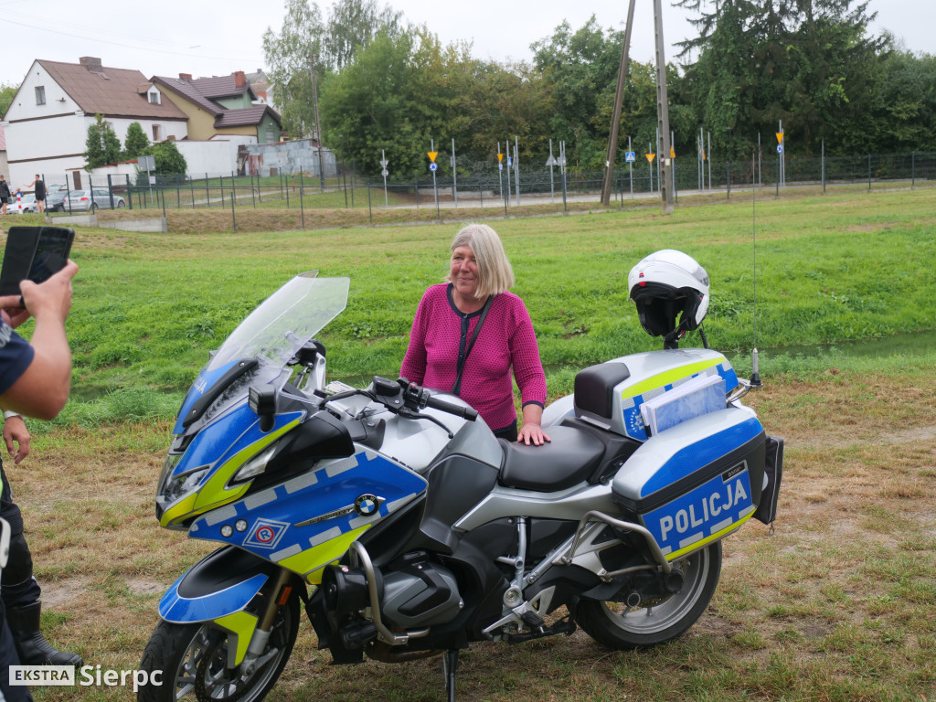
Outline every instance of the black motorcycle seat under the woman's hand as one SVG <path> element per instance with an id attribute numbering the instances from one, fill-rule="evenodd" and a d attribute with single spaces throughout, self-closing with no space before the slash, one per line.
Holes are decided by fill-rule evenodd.
<path id="1" fill-rule="evenodd" d="M 605 453 L 605 445 L 591 434 L 572 427 L 549 427 L 551 442 L 527 446 L 501 440 L 504 461 L 498 482 L 505 488 L 555 492 L 583 482 L 592 475 Z"/>

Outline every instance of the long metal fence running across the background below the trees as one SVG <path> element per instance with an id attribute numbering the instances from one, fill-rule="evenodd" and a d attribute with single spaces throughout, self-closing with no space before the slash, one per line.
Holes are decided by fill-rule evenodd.
<path id="1" fill-rule="evenodd" d="M 828 187 L 917 187 L 936 183 L 936 153 L 868 154 L 822 158 L 787 157 L 781 164 L 776 154 L 750 154 L 724 161 L 676 158 L 674 193 L 724 193 L 733 187 L 782 188 Z M 570 199 L 597 200 L 604 173 L 571 168 L 527 168 L 497 170 L 483 168 L 479 175 L 439 176 L 417 174 L 409 179 L 384 180 L 360 177 L 354 170 L 328 182 L 307 174 L 277 176 L 156 175 L 87 178 L 86 189 L 105 191 L 97 209 L 159 211 L 225 208 L 253 209 L 339 209 L 339 208 L 477 208 L 553 204 L 566 207 Z M 62 177 L 45 178 L 46 183 L 65 183 Z M 659 193 L 658 163 L 624 164 L 615 169 L 613 199 L 622 205 L 628 198 Z M 52 198 L 54 199 L 54 198 Z M 52 201 L 52 200 L 51 200 Z M 95 197 L 95 202 L 98 200 Z M 59 208 L 60 210 L 63 208 Z M 67 208 L 64 208 L 67 209 Z"/>

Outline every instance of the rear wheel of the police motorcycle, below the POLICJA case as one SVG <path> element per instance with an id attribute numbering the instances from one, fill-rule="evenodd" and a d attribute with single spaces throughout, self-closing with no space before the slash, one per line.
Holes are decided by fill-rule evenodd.
<path id="1" fill-rule="evenodd" d="M 709 607 L 722 573 L 722 543 L 715 542 L 674 565 L 682 569 L 679 592 L 647 598 L 634 607 L 583 600 L 576 622 L 611 649 L 644 649 L 680 636 Z"/>

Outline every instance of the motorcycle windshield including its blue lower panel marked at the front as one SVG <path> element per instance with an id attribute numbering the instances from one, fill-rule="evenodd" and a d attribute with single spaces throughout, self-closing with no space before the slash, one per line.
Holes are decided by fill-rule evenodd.
<path id="1" fill-rule="evenodd" d="M 347 304 L 350 279 L 318 278 L 317 274 L 297 275 L 231 332 L 185 396 L 173 434 L 182 434 L 189 425 L 197 431 L 241 402 L 251 384 L 288 379 L 286 364 Z M 256 361 L 252 370 L 236 371 L 238 365 L 251 361 Z"/>

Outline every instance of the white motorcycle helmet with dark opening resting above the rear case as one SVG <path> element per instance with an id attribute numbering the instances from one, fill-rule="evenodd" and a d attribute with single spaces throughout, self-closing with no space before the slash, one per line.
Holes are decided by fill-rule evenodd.
<path id="1" fill-rule="evenodd" d="M 698 329 L 709 311 L 709 274 L 681 251 L 663 249 L 647 256 L 627 274 L 627 287 L 643 328 L 670 342 Z"/>

